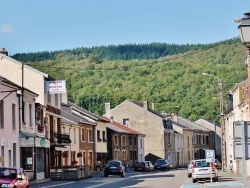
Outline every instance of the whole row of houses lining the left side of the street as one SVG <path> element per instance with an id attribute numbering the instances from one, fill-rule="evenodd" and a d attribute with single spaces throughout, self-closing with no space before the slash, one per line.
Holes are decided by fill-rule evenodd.
<path id="1" fill-rule="evenodd" d="M 204 158 L 206 149 L 221 153 L 221 129 L 214 122 L 189 121 L 164 114 L 147 101 L 106 103 L 103 116 L 71 101 L 67 93 L 46 93 L 50 75 L 0 53 L 0 165 L 20 166 L 31 180 L 50 178 L 51 169 L 119 159 L 169 159 L 183 166 Z"/>

